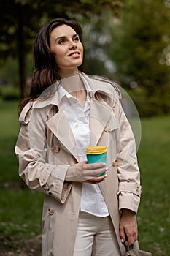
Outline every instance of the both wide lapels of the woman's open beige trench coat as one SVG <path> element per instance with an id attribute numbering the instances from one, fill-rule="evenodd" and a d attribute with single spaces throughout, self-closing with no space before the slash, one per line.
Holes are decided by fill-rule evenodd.
<path id="1" fill-rule="evenodd" d="M 98 102 L 96 99 L 91 99 L 90 105 L 90 144 L 96 145 L 101 137 L 104 127 L 111 115 L 111 108 Z M 59 110 L 52 118 L 47 121 L 47 127 L 61 141 L 63 146 L 80 162 L 77 148 L 75 145 L 72 129 L 69 127 L 69 122 L 63 113 Z"/>

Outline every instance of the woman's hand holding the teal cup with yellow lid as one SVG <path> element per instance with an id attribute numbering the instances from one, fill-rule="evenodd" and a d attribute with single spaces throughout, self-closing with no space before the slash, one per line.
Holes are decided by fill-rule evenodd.
<path id="1" fill-rule="evenodd" d="M 80 162 L 75 165 L 71 165 L 66 173 L 66 181 L 88 182 L 96 184 L 104 180 L 107 174 L 102 176 L 99 174 L 106 172 L 107 168 L 103 162 L 94 164 L 87 164 L 87 162 Z M 96 177 L 98 176 L 98 177 Z"/>

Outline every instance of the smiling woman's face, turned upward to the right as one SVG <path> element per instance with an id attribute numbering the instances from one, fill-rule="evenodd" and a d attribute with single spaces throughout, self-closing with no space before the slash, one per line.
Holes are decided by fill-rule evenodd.
<path id="1" fill-rule="evenodd" d="M 59 73 L 68 69 L 77 70 L 82 64 L 83 46 L 79 35 L 70 26 L 61 25 L 50 34 L 50 49 L 55 56 Z"/>

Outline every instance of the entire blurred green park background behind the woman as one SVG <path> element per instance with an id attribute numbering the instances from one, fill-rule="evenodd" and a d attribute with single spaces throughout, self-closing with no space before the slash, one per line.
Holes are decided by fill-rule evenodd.
<path id="1" fill-rule="evenodd" d="M 36 32 L 57 17 L 83 31 L 85 71 L 117 82 L 142 124 L 139 244 L 169 255 L 170 0 L 0 0 L 0 255 L 40 255 L 42 197 L 18 177 L 18 101 Z"/>

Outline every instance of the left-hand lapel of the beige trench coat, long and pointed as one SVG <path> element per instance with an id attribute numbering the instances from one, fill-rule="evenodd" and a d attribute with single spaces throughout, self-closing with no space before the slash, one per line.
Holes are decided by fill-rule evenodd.
<path id="1" fill-rule="evenodd" d="M 75 146 L 74 135 L 63 110 L 59 110 L 58 113 L 47 121 L 47 127 L 49 127 L 58 140 L 61 141 L 66 150 L 68 150 L 75 159 L 77 159 L 77 162 L 80 162 L 77 148 Z"/>

